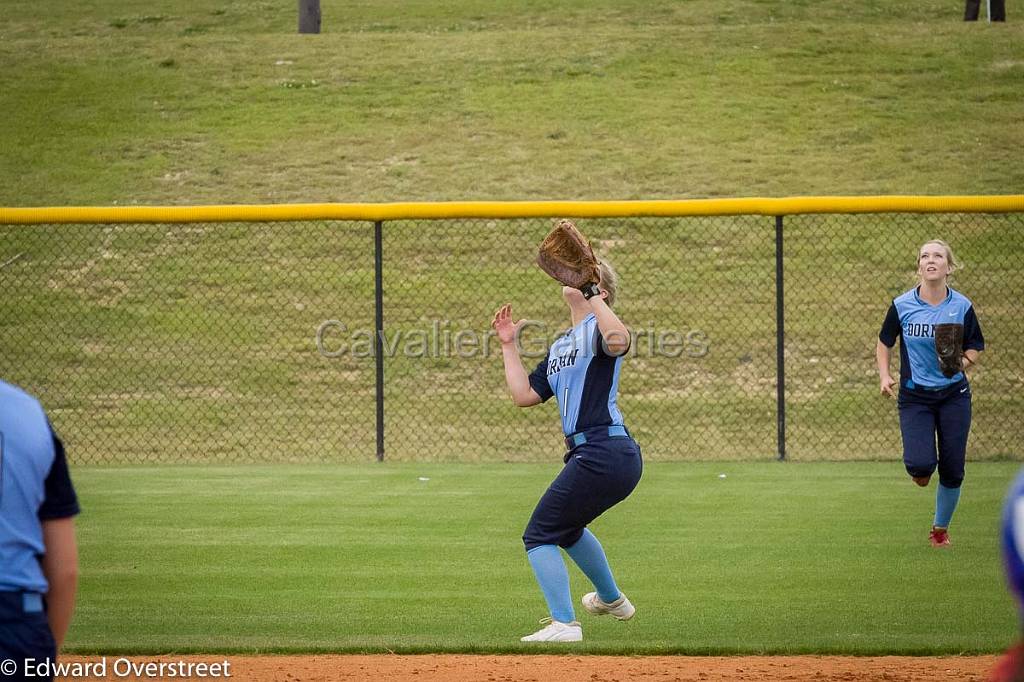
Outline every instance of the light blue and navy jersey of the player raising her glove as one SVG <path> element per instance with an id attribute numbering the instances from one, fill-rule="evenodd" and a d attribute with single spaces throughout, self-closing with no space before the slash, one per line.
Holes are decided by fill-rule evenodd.
<path id="1" fill-rule="evenodd" d="M 543 400 L 558 400 L 565 435 L 621 426 L 616 395 L 622 363 L 622 355 L 606 352 L 597 316 L 590 313 L 551 344 L 547 357 L 530 373 L 529 385 Z"/>

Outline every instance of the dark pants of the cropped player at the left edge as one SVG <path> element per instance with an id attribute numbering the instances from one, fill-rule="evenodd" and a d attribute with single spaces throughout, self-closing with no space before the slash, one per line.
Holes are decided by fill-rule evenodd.
<path id="1" fill-rule="evenodd" d="M 0 670 L 0 679 L 29 679 L 25 674 L 25 662 L 34 658 L 31 679 L 52 680 L 52 677 L 38 675 L 36 668 L 47 658 L 55 663 L 56 657 L 43 596 L 34 592 L 0 592 L 0 665 L 7 666 L 10 664 L 5 662 L 13 660 L 17 667 L 13 673 Z"/>

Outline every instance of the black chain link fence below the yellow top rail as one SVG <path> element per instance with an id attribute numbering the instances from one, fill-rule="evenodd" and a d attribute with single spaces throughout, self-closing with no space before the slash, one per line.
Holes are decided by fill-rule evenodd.
<path id="1" fill-rule="evenodd" d="M 552 460 L 554 401 L 512 406 L 489 329 L 504 303 L 531 321 L 532 369 L 569 326 L 534 264 L 551 224 L 3 225 L 0 377 L 78 464 Z M 1020 457 L 1024 215 L 785 217 L 782 403 L 774 218 L 578 224 L 622 279 L 620 407 L 646 459 L 776 458 L 780 408 L 788 459 L 898 459 L 874 344 L 932 238 L 988 343 L 969 458 Z"/>

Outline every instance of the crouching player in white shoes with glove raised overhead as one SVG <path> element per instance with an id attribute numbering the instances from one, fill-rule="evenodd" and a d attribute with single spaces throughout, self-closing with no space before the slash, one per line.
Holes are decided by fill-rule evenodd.
<path id="1" fill-rule="evenodd" d="M 630 349 L 630 333 L 610 307 L 617 288 L 615 272 L 607 263 L 599 269 L 600 282 L 582 289 L 562 288 L 572 329 L 551 345 L 528 375 L 516 338 L 525 321 L 514 323 L 511 306 L 505 305 L 492 323 L 502 342 L 513 401 L 527 408 L 554 396 L 567 450 L 565 466 L 541 498 L 522 537 L 551 614 L 550 625 L 523 637 L 524 642 L 583 639 L 559 548 L 594 585 L 595 592 L 583 597 L 588 612 L 627 621 L 636 610 L 620 592 L 601 544 L 587 528 L 633 492 L 643 469 L 640 446 L 626 430 L 616 406 L 618 372 Z"/>

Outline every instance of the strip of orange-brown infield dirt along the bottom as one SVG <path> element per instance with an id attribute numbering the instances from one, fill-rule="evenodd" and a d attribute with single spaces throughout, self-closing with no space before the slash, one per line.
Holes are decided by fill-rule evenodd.
<path id="1" fill-rule="evenodd" d="M 224 662 L 227 668 L 223 668 Z M 281 656 L 65 656 L 61 664 L 105 662 L 106 676 L 76 679 L 228 679 L 258 682 L 328 680 L 411 680 L 415 682 L 719 682 L 724 680 L 803 680 L 822 682 L 985 682 L 996 656 L 580 656 L 580 655 L 281 655 Z M 124 676 L 129 665 L 141 675 Z M 187 666 L 191 664 L 189 671 Z M 197 668 L 206 665 L 208 668 Z M 214 670 L 210 667 L 220 666 Z M 184 668 L 182 668 L 184 667 Z M 188 673 L 191 672 L 191 676 Z M 157 673 L 154 675 L 153 673 Z M 162 673 L 162 674 L 160 674 Z M 183 673 L 183 674 L 182 674 Z M 199 673 L 199 674 L 197 674 Z M 205 673 L 205 676 L 201 676 Z"/>

